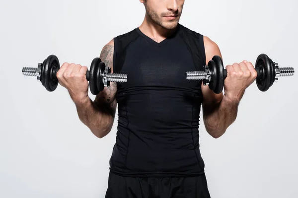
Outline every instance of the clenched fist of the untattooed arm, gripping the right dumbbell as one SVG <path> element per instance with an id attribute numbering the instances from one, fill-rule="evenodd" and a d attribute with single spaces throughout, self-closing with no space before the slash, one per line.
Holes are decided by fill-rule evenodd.
<path id="1" fill-rule="evenodd" d="M 251 62 L 243 60 L 226 66 L 227 76 L 224 80 L 224 95 L 232 101 L 240 101 L 247 87 L 257 77 L 257 72 Z"/>

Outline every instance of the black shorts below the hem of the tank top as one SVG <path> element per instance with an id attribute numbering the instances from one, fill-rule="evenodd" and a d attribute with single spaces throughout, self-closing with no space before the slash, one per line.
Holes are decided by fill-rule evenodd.
<path id="1" fill-rule="evenodd" d="M 205 173 L 192 177 L 123 177 L 109 173 L 105 198 L 210 198 Z"/>

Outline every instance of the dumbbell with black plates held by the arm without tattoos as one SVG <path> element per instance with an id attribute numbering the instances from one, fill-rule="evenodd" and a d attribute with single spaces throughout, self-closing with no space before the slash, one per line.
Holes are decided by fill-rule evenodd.
<path id="1" fill-rule="evenodd" d="M 187 80 L 203 80 L 204 85 L 208 85 L 216 94 L 220 94 L 224 89 L 224 79 L 226 69 L 220 56 L 213 56 L 203 71 L 186 72 Z M 266 92 L 274 82 L 278 82 L 279 77 L 293 76 L 293 67 L 281 67 L 273 62 L 268 55 L 261 53 L 256 60 L 255 70 L 257 72 L 256 83 L 260 91 Z"/>

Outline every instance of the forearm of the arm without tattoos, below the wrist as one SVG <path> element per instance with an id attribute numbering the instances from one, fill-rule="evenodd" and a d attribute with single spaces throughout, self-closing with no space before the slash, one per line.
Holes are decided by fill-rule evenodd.
<path id="1" fill-rule="evenodd" d="M 238 112 L 239 100 L 231 100 L 226 95 L 213 105 L 213 109 L 205 108 L 204 124 L 208 133 L 214 137 L 221 137 L 226 129 L 235 121 Z"/>

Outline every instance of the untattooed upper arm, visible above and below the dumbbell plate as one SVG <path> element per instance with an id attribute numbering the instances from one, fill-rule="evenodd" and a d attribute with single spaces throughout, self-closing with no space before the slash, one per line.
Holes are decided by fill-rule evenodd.
<path id="1" fill-rule="evenodd" d="M 213 58 L 213 56 L 218 55 L 222 58 L 221 51 L 218 45 L 210 40 L 208 37 L 204 36 L 204 46 L 206 53 L 206 64 Z M 223 93 L 215 94 L 209 86 L 204 86 L 203 82 L 201 85 L 202 94 L 203 94 L 203 113 L 208 113 L 212 110 L 216 104 L 218 104 L 224 97 Z"/>

